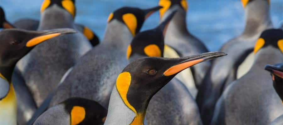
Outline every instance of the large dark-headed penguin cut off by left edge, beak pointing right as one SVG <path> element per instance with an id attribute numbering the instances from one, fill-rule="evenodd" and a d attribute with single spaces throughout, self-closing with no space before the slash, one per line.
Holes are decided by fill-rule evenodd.
<path id="1" fill-rule="evenodd" d="M 4 29 L 0 32 L 0 124 L 17 124 L 16 94 L 12 74 L 16 63 L 36 45 L 53 37 L 75 33 L 72 29 L 28 31 Z"/>

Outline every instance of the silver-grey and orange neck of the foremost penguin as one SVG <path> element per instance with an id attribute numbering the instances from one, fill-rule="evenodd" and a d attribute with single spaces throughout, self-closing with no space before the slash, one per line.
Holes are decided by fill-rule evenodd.
<path id="1" fill-rule="evenodd" d="M 106 117 L 106 121 L 104 125 L 110 124 L 127 124 L 127 125 L 141 125 L 146 124 L 144 123 L 144 118 L 146 115 L 146 109 L 149 101 L 145 101 L 142 104 L 143 109 L 142 111 L 136 111 L 136 113 L 130 109 L 125 102 L 120 97 L 117 88 L 114 87 L 109 107 L 108 107 L 108 114 Z"/>

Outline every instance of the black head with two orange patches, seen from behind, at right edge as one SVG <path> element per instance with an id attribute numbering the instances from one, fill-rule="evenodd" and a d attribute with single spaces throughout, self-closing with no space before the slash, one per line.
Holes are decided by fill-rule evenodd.
<path id="1" fill-rule="evenodd" d="M 280 49 L 283 53 L 283 30 L 282 29 L 269 29 L 261 33 L 258 41 L 254 46 L 254 53 L 257 53 L 264 47 L 272 46 Z"/>

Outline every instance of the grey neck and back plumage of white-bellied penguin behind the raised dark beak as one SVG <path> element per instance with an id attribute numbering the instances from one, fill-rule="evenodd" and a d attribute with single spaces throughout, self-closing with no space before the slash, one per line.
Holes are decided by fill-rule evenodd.
<path id="1" fill-rule="evenodd" d="M 179 5 L 170 7 L 162 17 L 161 21 L 166 18 L 171 12 L 176 11 L 175 16 L 169 23 L 165 35 L 165 44 L 173 47 L 181 55 L 180 57 L 196 55 L 208 52 L 203 42 L 193 36 L 186 28 L 186 11 Z M 202 79 L 210 67 L 210 62 L 204 62 L 191 67 L 193 78 L 198 88 Z M 186 84 L 186 83 L 184 83 Z"/>

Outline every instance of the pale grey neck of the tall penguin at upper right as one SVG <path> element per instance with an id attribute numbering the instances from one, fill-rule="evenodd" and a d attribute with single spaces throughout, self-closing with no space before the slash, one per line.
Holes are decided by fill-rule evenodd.
<path id="1" fill-rule="evenodd" d="M 260 34 L 263 30 L 273 27 L 268 3 L 260 2 L 266 1 L 253 1 L 245 8 L 246 26 L 243 35 Z"/>

